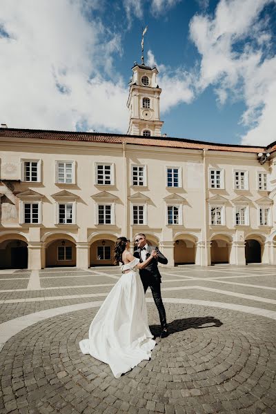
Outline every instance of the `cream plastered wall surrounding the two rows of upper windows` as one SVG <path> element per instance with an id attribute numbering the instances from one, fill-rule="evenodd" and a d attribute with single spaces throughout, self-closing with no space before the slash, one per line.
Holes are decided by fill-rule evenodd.
<path id="1" fill-rule="evenodd" d="M 0 235 L 3 232 L 8 234 L 9 231 L 23 231 L 26 233 L 28 242 L 41 243 L 42 248 L 43 243 L 47 244 L 50 235 L 55 235 L 55 233 L 68 234 L 76 242 L 77 249 L 83 244 L 82 248 L 88 251 L 87 259 L 84 259 L 86 255 L 83 255 L 83 258 L 80 259 L 79 265 L 84 267 L 89 265 L 89 248 L 92 238 L 94 235 L 100 237 L 101 233 L 105 235 L 103 238 L 106 238 L 106 235 L 112 235 L 113 239 L 116 239 L 120 235 L 126 235 L 126 237 L 133 239 L 135 233 L 142 231 L 159 242 L 161 250 L 167 255 L 171 265 L 174 264 L 173 246 L 175 240 L 177 238 L 185 239 L 186 235 L 190 235 L 194 242 L 199 244 L 197 264 L 205 265 L 206 259 L 202 252 L 204 252 L 206 246 L 208 249 L 210 249 L 210 246 L 205 244 L 204 228 L 207 231 L 207 242 L 216 239 L 216 237 L 219 239 L 219 235 L 223 234 L 228 237 L 229 242 L 241 243 L 252 233 L 262 236 L 265 242 L 276 231 L 275 218 L 273 219 L 274 228 L 260 228 L 257 223 L 257 204 L 255 201 L 264 197 L 264 195 L 269 195 L 269 192 L 257 190 L 256 172 L 266 171 L 269 174 L 270 170 L 268 163 L 264 166 L 259 164 L 255 154 L 207 151 L 206 172 L 208 172 L 208 167 L 224 168 L 225 189 L 207 189 L 206 195 L 204 194 L 202 150 L 127 144 L 124 152 L 124 146 L 121 144 L 42 139 L 24 139 L 22 142 L 16 138 L 11 138 L 5 142 L 1 137 L 1 178 L 21 179 L 21 159 L 42 159 L 42 182 L 15 183 L 13 193 L 5 185 L 1 185 L 0 193 L 5 195 L 6 200 L 10 200 L 9 204 L 13 206 L 13 210 L 10 209 L 9 214 L 6 212 L 3 215 L 3 204 L 5 203 L 2 204 L 2 230 Z M 55 184 L 56 160 L 76 162 L 76 184 Z M 114 186 L 95 185 L 95 162 L 115 164 Z M 146 164 L 148 175 L 148 185 L 146 187 L 130 186 L 131 164 Z M 181 167 L 181 188 L 166 188 L 166 166 Z M 249 190 L 233 190 L 234 168 L 249 171 Z M 274 170 L 273 174 L 275 175 Z M 275 179 L 273 186 L 276 187 Z M 43 195 L 42 226 L 19 224 L 19 199 L 16 193 L 23 192 L 28 188 Z M 77 223 L 75 225 L 55 224 L 55 199 L 52 198 L 52 195 L 61 190 L 68 190 L 79 197 L 77 199 Z M 96 204 L 91 196 L 101 193 L 103 190 L 118 197 L 115 203 L 115 225 L 97 226 L 95 224 Z M 146 226 L 131 226 L 130 224 L 131 204 L 128 197 L 138 192 L 149 197 L 148 224 Z M 166 225 L 166 202 L 164 197 L 171 194 L 184 197 L 183 226 Z M 234 207 L 230 201 L 226 204 L 226 226 L 210 226 L 208 222 L 206 223 L 204 202 L 206 202 L 206 198 L 208 199 L 213 195 L 221 195 L 228 200 L 239 195 L 248 197 L 252 201 L 250 204 L 250 226 L 240 226 L 239 228 L 234 226 Z M 208 203 L 206 208 L 208 208 Z M 275 206 L 273 206 L 273 212 L 275 217 Z M 88 244 L 87 247 L 86 244 Z M 235 248 L 233 248 L 233 251 Z M 239 246 L 239 248 L 239 251 L 242 251 L 242 246 Z M 273 253 L 270 253 L 270 257 L 273 257 Z M 37 260 L 39 260 L 39 255 L 36 256 L 35 261 Z M 237 262 L 237 259 L 233 260 Z M 272 262 L 272 260 L 270 261 Z M 208 264 L 210 264 L 210 259 Z"/>

